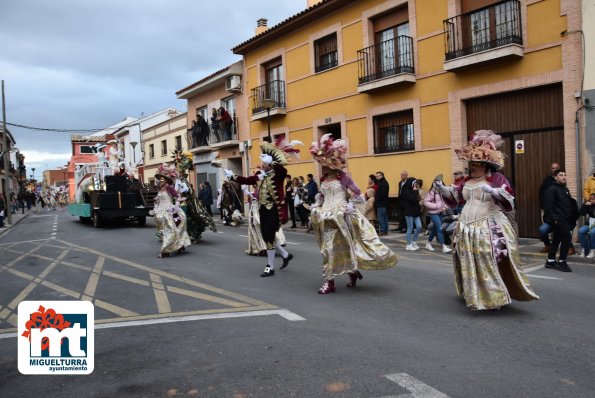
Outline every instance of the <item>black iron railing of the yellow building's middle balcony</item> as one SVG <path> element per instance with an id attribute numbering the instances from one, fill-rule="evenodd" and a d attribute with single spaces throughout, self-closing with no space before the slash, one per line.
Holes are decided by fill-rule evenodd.
<path id="1" fill-rule="evenodd" d="M 398 36 L 396 39 L 374 44 L 358 50 L 357 60 L 359 84 L 401 73 L 415 73 L 413 39 Z"/>

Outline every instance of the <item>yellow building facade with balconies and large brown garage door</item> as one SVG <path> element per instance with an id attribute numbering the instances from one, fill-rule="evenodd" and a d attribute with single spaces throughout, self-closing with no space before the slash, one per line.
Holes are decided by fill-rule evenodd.
<path id="1" fill-rule="evenodd" d="M 316 176 L 308 147 L 331 133 L 347 141 L 356 183 L 383 171 L 395 197 L 402 170 L 426 188 L 437 174 L 450 182 L 466 166 L 453 149 L 493 129 L 505 137 L 504 173 L 523 198 L 521 235 L 534 236 L 533 191 L 549 163 L 565 165 L 571 191 L 580 179 L 575 3 L 320 1 L 233 48 L 244 60 L 250 164 L 270 122 L 273 137 L 305 143 L 289 173 Z"/>

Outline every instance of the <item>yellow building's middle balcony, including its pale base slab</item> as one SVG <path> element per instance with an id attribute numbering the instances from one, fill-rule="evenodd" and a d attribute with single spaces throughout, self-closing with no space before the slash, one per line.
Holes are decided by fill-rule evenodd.
<path id="1" fill-rule="evenodd" d="M 398 36 L 359 50 L 357 60 L 360 93 L 416 81 L 413 39 L 409 36 Z"/>

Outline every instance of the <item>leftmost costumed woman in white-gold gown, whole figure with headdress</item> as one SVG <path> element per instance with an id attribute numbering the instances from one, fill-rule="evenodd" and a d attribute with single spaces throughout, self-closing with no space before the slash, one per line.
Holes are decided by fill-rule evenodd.
<path id="1" fill-rule="evenodd" d="M 174 188 L 177 178 L 174 165 L 162 164 L 155 174 L 159 180 L 159 192 L 155 197 L 155 224 L 161 236 L 161 251 L 157 257 L 169 257 L 170 253 L 181 253 L 190 246 L 190 237 L 186 232 L 186 215 L 180 208 L 184 201 Z"/>

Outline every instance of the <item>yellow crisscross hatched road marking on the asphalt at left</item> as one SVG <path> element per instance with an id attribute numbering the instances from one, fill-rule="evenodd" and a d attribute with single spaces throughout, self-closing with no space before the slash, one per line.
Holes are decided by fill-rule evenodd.
<path id="1" fill-rule="evenodd" d="M 32 243 L 35 247 L 31 246 Z M 164 317 L 171 318 L 196 315 L 203 316 L 265 310 L 270 311 L 279 309 L 276 305 L 268 304 L 261 300 L 256 300 L 239 293 L 234 293 L 228 290 L 206 285 L 198 281 L 187 279 L 180 275 L 165 272 L 157 268 L 144 266 L 93 249 L 77 246 L 59 239 L 40 239 L 30 243 L 21 242 L 21 247 L 19 247 L 18 242 L 13 242 L 10 244 L 0 245 L 0 247 L 10 248 L 10 251 L 16 253 L 18 256 L 12 260 L 8 266 L 0 267 L 0 272 L 6 271 L 7 274 L 11 276 L 14 275 L 30 282 L 27 284 L 28 286 L 25 289 L 21 289 L 17 298 L 2 298 L 3 302 L 0 302 L 0 321 L 7 322 L 7 326 L 16 325 L 14 323 L 14 320 L 16 319 L 14 308 L 16 308 L 21 300 L 30 299 L 33 296 L 42 294 L 36 293 L 35 291 L 35 287 L 39 285 L 74 299 L 91 301 L 97 306 L 97 308 L 102 308 L 112 314 L 115 314 L 115 316 L 112 317 L 107 315 L 103 319 L 96 319 L 96 322 L 100 324 L 123 321 L 154 320 Z M 59 249 L 59 251 L 53 255 L 48 254 L 51 253 L 51 251 L 38 251 L 40 249 Z M 70 259 L 70 257 L 78 258 L 78 256 L 76 256 L 77 252 L 83 254 L 83 260 L 81 261 L 91 264 L 94 263 L 94 265 L 85 266 L 66 260 Z M 89 258 L 89 255 L 96 257 L 93 260 Z M 27 273 L 29 268 L 22 268 L 24 262 L 30 258 L 39 259 L 42 262 L 49 264 L 49 266 L 47 266 L 40 275 L 30 275 Z M 114 266 L 116 268 L 114 268 Z M 107 271 L 106 267 L 108 267 L 107 269 L 110 269 L 110 271 Z M 45 280 L 47 279 L 46 277 L 48 277 L 48 275 L 53 275 L 53 271 L 58 271 L 64 268 L 74 268 L 83 272 L 80 290 L 72 290 L 72 287 L 69 283 L 70 279 L 65 280 L 64 286 L 61 286 L 62 284 L 56 280 L 53 280 L 53 282 Z M 124 270 L 122 271 L 122 274 L 119 273 L 120 270 Z M 135 276 L 128 276 L 130 270 L 140 270 L 141 272 Z M 32 272 L 37 272 L 37 270 L 35 269 L 35 271 Z M 101 278 L 106 279 L 102 280 Z M 112 296 L 106 295 L 106 291 L 104 289 L 105 287 L 110 286 L 110 278 L 118 279 L 128 283 L 129 285 L 125 287 L 127 291 L 134 286 L 135 288 L 139 289 L 145 289 L 147 287 L 150 288 L 152 296 L 155 297 L 156 305 L 154 307 L 147 307 L 149 310 L 146 310 L 144 313 L 137 313 L 120 306 L 121 303 L 118 301 L 113 302 L 115 299 Z M 176 309 L 174 302 L 170 302 L 172 296 L 169 295 L 172 294 L 180 294 L 182 296 L 195 299 L 196 301 L 192 302 L 194 308 L 191 307 L 188 310 L 186 310 L 186 308 Z M 126 303 L 129 302 L 125 301 L 126 295 L 123 297 L 124 300 L 120 301 L 124 303 L 124 306 L 128 307 Z M 106 299 L 109 300 L 109 302 L 106 301 Z M 8 300 L 12 301 L 7 304 Z M 209 306 L 207 307 L 209 309 L 204 309 L 204 302 L 220 304 L 220 307 L 217 306 L 219 308 L 212 308 L 213 306 Z M 14 308 L 11 308 L 10 305 L 12 305 Z M 297 315 L 292 315 L 289 312 L 280 312 L 279 314 L 290 320 L 303 319 Z M 0 329 L 0 336 L 14 331 L 16 331 L 15 328 L 5 327 Z"/>

